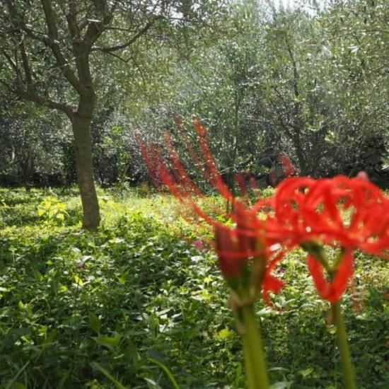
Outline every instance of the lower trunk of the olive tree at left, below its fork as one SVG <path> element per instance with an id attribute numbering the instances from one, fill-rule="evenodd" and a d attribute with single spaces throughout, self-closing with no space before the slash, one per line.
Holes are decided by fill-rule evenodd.
<path id="1" fill-rule="evenodd" d="M 100 209 L 93 178 L 91 115 L 79 112 L 71 118 L 76 153 L 77 180 L 83 207 L 83 228 L 96 231 L 100 223 Z"/>

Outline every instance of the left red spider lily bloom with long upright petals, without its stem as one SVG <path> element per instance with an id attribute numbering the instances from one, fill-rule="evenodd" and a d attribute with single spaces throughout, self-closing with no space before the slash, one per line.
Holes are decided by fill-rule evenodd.
<path id="1" fill-rule="evenodd" d="M 202 197 L 202 193 L 187 175 L 169 136 L 166 137 L 168 158 L 164 158 L 160 150 L 139 142 L 149 174 L 154 184 L 158 185 L 160 183 L 158 180 L 161 180 L 171 194 L 214 226 L 219 267 L 228 283 L 236 288 L 237 283 L 239 284 L 243 277 L 250 274 L 249 283 L 252 289 L 257 293 L 262 288 L 263 296 L 265 300 L 268 300 L 269 291 L 277 293 L 281 289 L 282 282 L 271 273 L 284 252 L 280 250 L 281 246 L 276 245 L 279 241 L 277 226 L 274 223 L 269 224 L 272 238 L 268 239 L 267 223 L 258 217 L 259 211 L 266 206 L 267 202 L 260 200 L 254 207 L 249 207 L 244 200 L 233 196 L 216 168 L 207 144 L 206 129 L 197 119 L 193 124 L 204 160 L 204 163 L 200 164 L 202 174 L 228 202 L 233 204 L 234 211 L 230 216 L 236 223 L 236 227 L 228 228 L 220 221 L 211 218 L 194 201 L 194 196 Z M 190 152 L 191 158 L 198 162 L 199 158 L 192 155 L 194 154 L 192 148 Z M 241 284 L 244 282 L 240 282 Z"/>

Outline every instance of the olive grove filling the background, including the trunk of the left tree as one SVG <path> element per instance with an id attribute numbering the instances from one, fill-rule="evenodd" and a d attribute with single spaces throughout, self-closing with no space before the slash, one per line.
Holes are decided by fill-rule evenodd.
<path id="1" fill-rule="evenodd" d="M 285 153 L 388 185 L 387 1 L 294 3 L 1 1 L 2 182 L 77 175 L 97 226 L 94 178 L 146 180 L 134 133 L 194 139 L 195 115 L 227 180 Z"/>

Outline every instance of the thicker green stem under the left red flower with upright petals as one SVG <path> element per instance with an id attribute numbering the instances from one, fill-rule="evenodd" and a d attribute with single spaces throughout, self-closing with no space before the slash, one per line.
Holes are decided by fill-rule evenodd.
<path id="1" fill-rule="evenodd" d="M 248 388 L 267 389 L 269 388 L 269 379 L 267 378 L 260 327 L 255 320 L 254 305 L 248 304 L 238 308 L 238 317 L 241 326 Z"/>

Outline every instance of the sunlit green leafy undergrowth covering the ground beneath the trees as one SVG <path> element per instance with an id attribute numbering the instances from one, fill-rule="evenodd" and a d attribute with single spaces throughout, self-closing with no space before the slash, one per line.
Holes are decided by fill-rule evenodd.
<path id="1" fill-rule="evenodd" d="M 192 245 L 207 228 L 170 197 L 99 195 L 88 233 L 76 192 L 0 190 L 0 388 L 243 388 L 228 290 Z M 388 263 L 356 256 L 344 309 L 358 385 L 388 388 Z M 274 388 L 342 388 L 301 252 L 278 273 L 275 308 L 257 306 Z"/>

